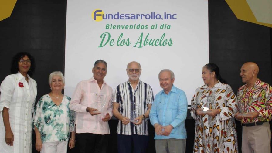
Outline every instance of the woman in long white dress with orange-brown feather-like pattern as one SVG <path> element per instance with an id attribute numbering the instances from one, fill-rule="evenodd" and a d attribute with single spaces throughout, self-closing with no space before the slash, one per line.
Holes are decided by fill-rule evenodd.
<path id="1" fill-rule="evenodd" d="M 193 152 L 238 152 L 233 118 L 237 112 L 236 96 L 228 84 L 221 83 L 219 68 L 215 64 L 203 67 L 202 79 L 205 85 L 196 89 L 190 109 L 196 120 Z M 203 111 L 205 107 L 208 111 Z"/>

